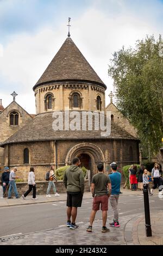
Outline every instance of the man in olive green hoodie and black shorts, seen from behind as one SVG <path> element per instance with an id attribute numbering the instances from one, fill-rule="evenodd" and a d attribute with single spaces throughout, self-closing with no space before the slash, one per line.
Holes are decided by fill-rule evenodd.
<path id="1" fill-rule="evenodd" d="M 79 168 L 80 164 L 79 158 L 74 157 L 72 165 L 65 171 L 63 180 L 67 190 L 67 227 L 70 229 L 79 227 L 76 224 L 77 209 L 82 206 L 84 193 L 84 174 Z"/>

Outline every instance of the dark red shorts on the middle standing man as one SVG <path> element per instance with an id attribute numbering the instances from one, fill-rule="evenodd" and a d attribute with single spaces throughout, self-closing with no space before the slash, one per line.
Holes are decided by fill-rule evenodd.
<path id="1" fill-rule="evenodd" d="M 93 198 L 92 210 L 98 211 L 99 205 L 101 204 L 102 211 L 108 211 L 108 195 L 104 194 L 103 196 L 97 196 Z"/>

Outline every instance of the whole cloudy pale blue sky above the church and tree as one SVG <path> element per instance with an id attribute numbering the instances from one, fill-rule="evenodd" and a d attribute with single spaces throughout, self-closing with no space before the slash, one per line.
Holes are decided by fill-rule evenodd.
<path id="1" fill-rule="evenodd" d="M 0 99 L 4 107 L 14 90 L 19 103 L 35 113 L 33 86 L 67 38 L 71 38 L 108 94 L 112 54 L 136 40 L 163 34 L 163 0 L 0 0 Z"/>

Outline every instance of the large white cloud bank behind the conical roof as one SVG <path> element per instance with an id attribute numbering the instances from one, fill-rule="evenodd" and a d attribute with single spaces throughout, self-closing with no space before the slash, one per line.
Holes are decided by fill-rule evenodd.
<path id="1" fill-rule="evenodd" d="M 123 5 L 123 1 L 118 2 Z M 71 25 L 74 43 L 108 86 L 106 104 L 109 102 L 107 95 L 113 89 L 111 78 L 108 77 L 111 53 L 120 49 L 122 45 L 134 46 L 135 41 L 145 38 L 146 34 L 158 36 L 160 33 L 153 25 L 150 15 L 146 15 L 144 19 L 139 17 L 139 14 L 133 15 L 124 9 L 122 13 L 118 12 L 118 15 L 109 15 L 109 11 L 106 15 L 102 10 L 91 8 L 77 20 L 72 19 Z M 4 95 L 17 90 L 20 105 L 30 113 L 35 112 L 32 88 L 61 47 L 66 34 L 66 25 L 61 23 L 57 30 L 43 27 L 36 34 L 17 34 L 9 38 L 8 44 L 3 47 L 0 74 L 5 77 L 5 83 L 17 86 L 1 89 L 5 102 L 10 103 L 10 98 Z"/>

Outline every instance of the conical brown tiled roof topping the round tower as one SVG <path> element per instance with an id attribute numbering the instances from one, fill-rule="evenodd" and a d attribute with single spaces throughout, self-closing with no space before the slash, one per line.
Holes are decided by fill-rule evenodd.
<path id="1" fill-rule="evenodd" d="M 34 88 L 56 81 L 90 81 L 106 88 L 71 38 L 67 38 Z"/>

